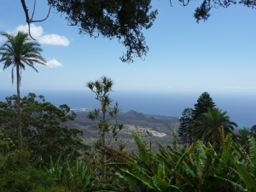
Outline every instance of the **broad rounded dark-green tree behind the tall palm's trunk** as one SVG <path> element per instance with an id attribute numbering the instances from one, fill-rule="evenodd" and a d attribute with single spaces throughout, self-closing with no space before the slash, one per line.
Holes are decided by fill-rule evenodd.
<path id="1" fill-rule="evenodd" d="M 41 101 L 43 100 L 43 101 Z M 0 126 L 3 127 L 6 135 L 12 141 L 17 141 L 15 127 L 15 116 L 17 96 L 6 97 L 7 102 L 1 102 L 3 106 L 0 110 Z M 61 123 L 67 120 L 73 120 L 75 113 L 67 115 L 70 108 L 66 104 L 56 108 L 50 102 L 44 102 L 44 96 L 37 96 L 29 93 L 21 99 L 20 107 L 22 109 L 21 121 L 23 131 L 23 141 L 26 143 L 28 150 L 32 151 L 31 160 L 35 161 L 41 157 L 44 164 L 49 166 L 49 156 L 57 160 L 62 153 L 62 158 L 66 159 L 68 154 L 75 160 L 77 157 L 87 154 L 90 148 L 85 145 L 79 136 L 82 131 L 78 129 L 68 129 L 67 126 L 61 126 Z"/>

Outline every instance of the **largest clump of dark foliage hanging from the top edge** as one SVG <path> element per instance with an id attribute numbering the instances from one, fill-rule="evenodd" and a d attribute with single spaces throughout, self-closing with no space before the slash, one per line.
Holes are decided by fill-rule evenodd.
<path id="1" fill-rule="evenodd" d="M 79 33 L 95 38 L 99 34 L 104 38 L 118 38 L 127 49 L 121 61 L 133 62 L 134 56 L 147 55 L 148 46 L 142 30 L 150 28 L 158 14 L 157 10 L 149 12 L 150 0 L 48 0 L 48 3 L 58 12 L 67 14 L 69 24 L 79 26 Z"/>

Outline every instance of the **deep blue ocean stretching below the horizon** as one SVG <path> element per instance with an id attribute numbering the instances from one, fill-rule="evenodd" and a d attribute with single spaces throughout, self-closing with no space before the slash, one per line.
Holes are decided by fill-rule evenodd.
<path id="1" fill-rule="evenodd" d="M 29 91 L 20 89 L 20 96 L 26 96 Z M 71 109 L 99 108 L 100 103 L 89 90 L 35 90 L 37 96 L 43 95 L 46 102 L 59 107 L 67 104 Z M 209 92 L 210 93 L 210 92 Z M 5 102 L 5 96 L 12 96 L 15 91 L 0 90 L 0 102 Z M 256 125 L 256 99 L 253 95 L 211 94 L 217 108 L 227 111 L 230 120 L 239 127 Z M 189 92 L 154 92 L 154 91 L 115 91 L 110 93 L 114 102 L 118 101 L 123 112 L 135 110 L 138 113 L 161 114 L 181 117 L 184 108 L 194 108 L 201 93 Z"/>

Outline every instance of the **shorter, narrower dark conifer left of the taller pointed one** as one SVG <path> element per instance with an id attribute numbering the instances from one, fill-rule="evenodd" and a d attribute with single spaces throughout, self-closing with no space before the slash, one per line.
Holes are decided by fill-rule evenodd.
<path id="1" fill-rule="evenodd" d="M 193 109 L 185 108 L 182 115 L 183 117 L 179 119 L 180 125 L 177 131 L 179 143 L 191 145 L 193 143 L 192 132 L 194 128 Z"/>

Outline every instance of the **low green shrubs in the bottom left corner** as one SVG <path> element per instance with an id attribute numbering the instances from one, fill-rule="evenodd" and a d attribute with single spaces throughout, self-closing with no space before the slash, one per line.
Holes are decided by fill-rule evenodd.
<path id="1" fill-rule="evenodd" d="M 15 151 L 5 156 L 0 154 L 0 162 L 3 158 L 5 160 L 0 167 L 1 191 L 31 191 L 55 186 L 54 177 L 31 165 L 28 151 Z"/>

